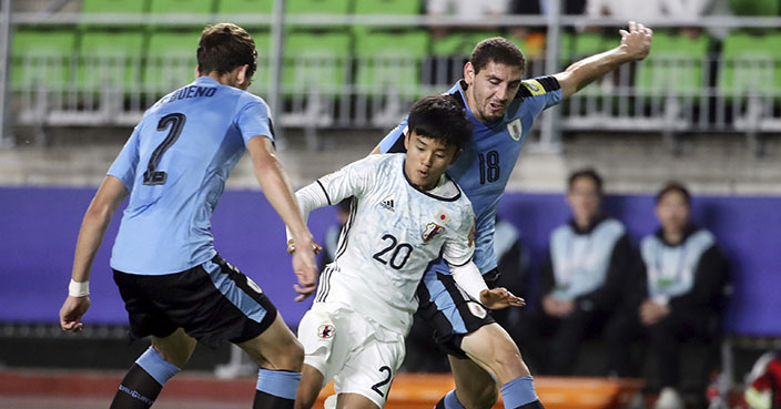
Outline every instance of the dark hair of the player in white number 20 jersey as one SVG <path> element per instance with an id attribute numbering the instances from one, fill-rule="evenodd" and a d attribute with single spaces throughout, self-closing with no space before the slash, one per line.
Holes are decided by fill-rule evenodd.
<path id="1" fill-rule="evenodd" d="M 449 95 L 424 96 L 415 102 L 409 110 L 407 127 L 409 132 L 456 149 L 464 147 L 471 137 L 471 122 Z"/>

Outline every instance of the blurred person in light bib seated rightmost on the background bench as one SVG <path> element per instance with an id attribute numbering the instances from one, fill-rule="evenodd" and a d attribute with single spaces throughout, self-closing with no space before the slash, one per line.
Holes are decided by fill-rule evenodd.
<path id="1" fill-rule="evenodd" d="M 696 338 L 709 345 L 719 340 L 728 263 L 713 234 L 692 224 L 691 195 L 680 183 L 659 191 L 656 216 L 661 225 L 642 238 L 641 276 L 632 282 L 635 323 L 648 342 L 648 359 L 656 366 L 647 386 L 661 388 L 655 409 L 682 409 L 679 393 L 680 342 Z M 632 325 L 632 323 L 630 323 Z M 631 334 L 617 331 L 616 334 Z M 628 341 L 615 342 L 617 354 L 628 356 Z M 707 376 L 707 374 L 702 374 Z"/>

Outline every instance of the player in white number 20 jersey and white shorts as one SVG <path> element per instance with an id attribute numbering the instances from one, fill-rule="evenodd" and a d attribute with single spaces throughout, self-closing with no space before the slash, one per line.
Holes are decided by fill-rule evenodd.
<path id="1" fill-rule="evenodd" d="M 523 305 L 504 288 L 488 290 L 471 263 L 475 216 L 445 174 L 470 135 L 463 108 L 448 96 L 427 96 L 412 108 L 406 155 L 372 155 L 296 192 L 305 218 L 353 197 L 336 257 L 298 326 L 306 357 L 296 408 L 311 408 L 332 378 L 337 408 L 385 405 L 404 360 L 416 289 L 440 256 L 471 309 Z"/>

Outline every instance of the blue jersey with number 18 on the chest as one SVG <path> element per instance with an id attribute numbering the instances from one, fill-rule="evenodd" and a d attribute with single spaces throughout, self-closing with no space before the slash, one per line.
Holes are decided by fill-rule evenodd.
<path id="1" fill-rule="evenodd" d="M 494 253 L 494 224 L 507 181 L 520 154 L 520 147 L 535 117 L 542 110 L 561 101 L 561 89 L 552 76 L 540 76 L 521 82 L 518 94 L 497 123 L 487 125 L 473 115 L 466 103 L 467 84 L 462 80 L 446 94 L 452 94 L 465 106 L 474 125 L 473 139 L 464 146 L 460 157 L 447 168 L 464 190 L 477 217 L 475 264 L 480 273 L 496 268 Z M 388 133 L 379 143 L 382 153 L 402 152 L 407 119 Z"/>

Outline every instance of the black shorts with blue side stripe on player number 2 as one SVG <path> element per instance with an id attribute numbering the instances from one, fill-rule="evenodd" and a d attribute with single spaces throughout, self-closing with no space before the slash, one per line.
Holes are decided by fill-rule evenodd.
<path id="1" fill-rule="evenodd" d="M 159 338 L 183 328 L 217 348 L 261 335 L 276 307 L 261 288 L 219 255 L 182 273 L 161 276 L 114 270 L 130 319 L 130 338 Z"/>

